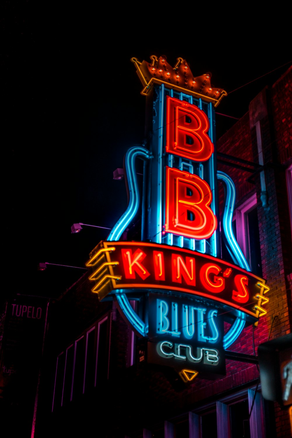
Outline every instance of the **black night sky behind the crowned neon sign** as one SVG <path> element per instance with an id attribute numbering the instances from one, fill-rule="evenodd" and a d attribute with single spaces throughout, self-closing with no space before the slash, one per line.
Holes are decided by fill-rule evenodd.
<path id="1" fill-rule="evenodd" d="M 212 84 L 227 92 L 265 75 L 223 98 L 216 112 L 232 117 L 242 117 L 292 58 L 285 26 L 275 38 L 267 22 L 259 28 L 243 17 L 211 30 L 165 27 L 159 20 L 117 24 L 109 12 L 56 16 L 51 4 L 38 8 L 30 1 L 3 8 L 2 222 L 9 278 L 3 298 L 59 296 L 83 271 L 49 265 L 41 272 L 38 263 L 84 267 L 109 230 L 84 226 L 71 234 L 71 225 L 110 228 L 127 207 L 124 182 L 113 180 L 113 171 L 143 141 L 145 117 L 131 57 L 165 55 L 171 65 L 183 57 L 195 76 L 209 71 Z M 217 138 L 235 122 L 217 115 Z"/>

